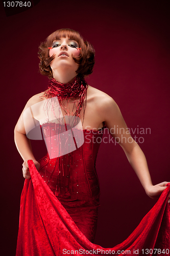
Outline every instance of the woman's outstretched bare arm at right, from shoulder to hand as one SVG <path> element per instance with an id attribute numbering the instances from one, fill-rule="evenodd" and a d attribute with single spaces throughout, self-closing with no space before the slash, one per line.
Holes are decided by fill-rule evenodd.
<path id="1" fill-rule="evenodd" d="M 106 127 L 119 145 L 122 146 L 145 192 L 151 198 L 158 198 L 166 188 L 167 182 L 162 182 L 155 186 L 152 184 L 147 160 L 139 145 L 128 132 L 128 127 L 117 104 L 108 96 L 103 100 L 100 110 L 105 120 Z M 170 200 L 168 202 L 170 202 Z"/>

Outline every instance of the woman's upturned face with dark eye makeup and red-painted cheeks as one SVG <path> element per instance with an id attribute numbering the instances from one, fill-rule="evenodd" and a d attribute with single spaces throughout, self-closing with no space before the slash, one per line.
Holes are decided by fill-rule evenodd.
<path id="1" fill-rule="evenodd" d="M 55 58 L 51 62 L 51 69 L 55 71 L 56 69 L 67 68 L 76 71 L 79 67 L 79 64 L 75 62 L 72 58 L 78 57 L 80 55 L 80 50 L 78 42 L 68 37 L 62 37 L 56 39 L 52 44 L 52 49 L 50 49 L 50 57 L 54 54 Z"/>

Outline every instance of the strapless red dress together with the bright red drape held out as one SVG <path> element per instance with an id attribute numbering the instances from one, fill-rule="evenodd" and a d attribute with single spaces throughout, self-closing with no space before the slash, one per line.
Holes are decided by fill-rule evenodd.
<path id="1" fill-rule="evenodd" d="M 169 255 L 169 184 L 127 240 L 113 248 L 92 244 L 100 205 L 95 161 L 104 128 L 83 130 L 83 145 L 59 157 L 54 157 L 60 141 L 54 143 L 53 125 L 44 124 L 42 130 L 49 137 L 48 154 L 40 159 L 39 171 L 28 161 L 31 179 L 25 180 L 21 195 L 17 256 L 124 255 L 126 251 L 130 255 Z"/>

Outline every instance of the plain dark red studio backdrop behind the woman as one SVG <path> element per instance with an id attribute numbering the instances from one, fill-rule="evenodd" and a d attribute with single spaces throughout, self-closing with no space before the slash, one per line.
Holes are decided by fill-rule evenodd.
<path id="1" fill-rule="evenodd" d="M 46 89 L 38 73 L 38 46 L 60 28 L 79 31 L 94 46 L 88 83 L 114 98 L 130 129 L 150 127 L 139 143 L 153 183 L 169 181 L 169 4 L 165 1 L 52 1 L 6 17 L 1 3 L 2 255 L 15 255 L 24 179 L 13 139 L 27 100 Z M 138 136 L 136 134 L 136 136 Z M 42 142 L 33 143 L 42 157 Z M 101 208 L 95 243 L 125 240 L 156 201 L 145 194 L 118 145 L 102 143 L 96 163 Z"/>

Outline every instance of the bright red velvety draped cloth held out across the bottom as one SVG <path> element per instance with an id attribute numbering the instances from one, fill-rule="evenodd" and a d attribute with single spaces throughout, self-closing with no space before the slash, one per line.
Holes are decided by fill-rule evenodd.
<path id="1" fill-rule="evenodd" d="M 170 206 L 167 199 L 170 183 L 129 238 L 113 248 L 103 248 L 84 236 L 44 182 L 33 161 L 29 160 L 28 164 L 31 179 L 25 180 L 21 194 L 16 256 L 169 255 Z"/>

